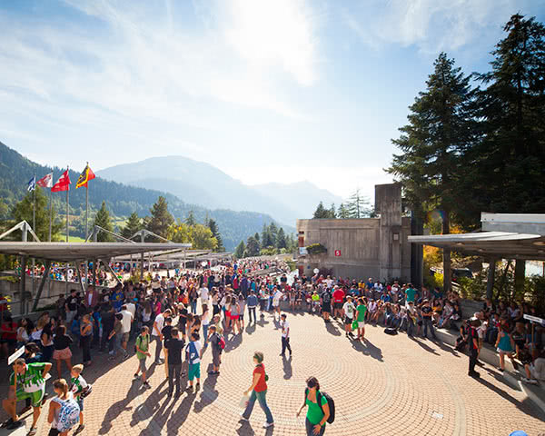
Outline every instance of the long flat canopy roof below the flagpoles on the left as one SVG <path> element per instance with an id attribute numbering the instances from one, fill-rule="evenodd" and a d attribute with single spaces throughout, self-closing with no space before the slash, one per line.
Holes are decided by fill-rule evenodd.
<path id="1" fill-rule="evenodd" d="M 191 248 L 191 243 L 13 243 L 0 242 L 0 253 L 36 257 L 55 262 L 110 259 L 115 256 L 175 251 Z"/>

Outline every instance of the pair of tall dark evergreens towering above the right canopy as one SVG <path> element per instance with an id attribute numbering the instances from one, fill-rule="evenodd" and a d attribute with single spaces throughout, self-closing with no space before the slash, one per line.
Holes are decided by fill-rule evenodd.
<path id="1" fill-rule="evenodd" d="M 392 140 L 400 153 L 386 171 L 402 183 L 420 234 L 431 211 L 443 234 L 453 224 L 477 229 L 482 211 L 545 211 L 545 26 L 516 14 L 503 30 L 486 73 L 465 74 L 439 54 Z M 515 267 L 522 286 L 524 265 Z M 443 267 L 449 289 L 449 250 Z"/>

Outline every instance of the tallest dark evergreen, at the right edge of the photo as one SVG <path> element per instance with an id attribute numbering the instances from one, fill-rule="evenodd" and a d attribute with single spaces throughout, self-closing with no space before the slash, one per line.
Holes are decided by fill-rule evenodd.
<path id="1" fill-rule="evenodd" d="M 482 141 L 469 154 L 463 189 L 471 195 L 471 222 L 481 211 L 542 213 L 545 210 L 545 26 L 516 14 L 492 52 L 491 71 L 478 74 Z M 465 205 L 465 204 L 464 204 Z M 522 293 L 525 262 L 515 265 Z"/>

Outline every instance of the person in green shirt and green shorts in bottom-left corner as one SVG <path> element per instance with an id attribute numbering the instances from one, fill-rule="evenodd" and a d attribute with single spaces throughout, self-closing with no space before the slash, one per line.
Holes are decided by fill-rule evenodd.
<path id="1" fill-rule="evenodd" d="M 14 372 L 9 378 L 8 398 L 2 401 L 2 407 L 11 417 L 5 421 L 3 427 L 8 430 L 14 430 L 23 425 L 17 416 L 16 401 L 22 401 L 27 398 L 32 401 L 34 409 L 32 427 L 28 432 L 33 436 L 36 434 L 36 423 L 40 418 L 42 411 L 42 400 L 45 394 L 45 376 L 51 370 L 52 364 L 49 362 L 25 363 L 25 359 L 17 359 L 14 363 Z M 17 374 L 17 385 L 15 386 L 15 373 Z"/>

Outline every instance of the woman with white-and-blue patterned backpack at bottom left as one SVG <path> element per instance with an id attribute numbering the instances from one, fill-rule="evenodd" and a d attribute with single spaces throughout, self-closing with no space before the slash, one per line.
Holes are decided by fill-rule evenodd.
<path id="1" fill-rule="evenodd" d="M 53 389 L 57 396 L 49 403 L 47 422 L 52 424 L 49 436 L 66 436 L 79 422 L 80 409 L 64 379 L 55 380 Z"/>

